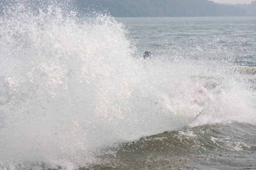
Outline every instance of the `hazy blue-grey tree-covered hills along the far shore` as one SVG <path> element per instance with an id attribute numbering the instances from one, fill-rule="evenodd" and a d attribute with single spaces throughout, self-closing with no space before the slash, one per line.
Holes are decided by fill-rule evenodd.
<path id="1" fill-rule="evenodd" d="M 115 17 L 256 16 L 256 1 L 249 5 L 230 5 L 209 0 L 0 0 L 0 14 L 5 6 L 16 3 L 35 11 L 51 4 L 72 6 L 78 16 L 93 11 L 107 12 Z"/>

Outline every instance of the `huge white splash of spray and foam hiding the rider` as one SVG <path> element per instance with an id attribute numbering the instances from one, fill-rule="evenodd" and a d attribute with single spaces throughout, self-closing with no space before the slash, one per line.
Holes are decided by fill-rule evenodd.
<path id="1" fill-rule="evenodd" d="M 99 148 L 180 129 L 202 111 L 194 125 L 255 113 L 255 94 L 223 64 L 140 59 L 123 24 L 110 16 L 76 18 L 55 6 L 35 14 L 22 5 L 6 13 L 2 168 L 44 162 L 74 169 L 95 161 Z M 249 120 L 255 117 L 241 121 Z"/>

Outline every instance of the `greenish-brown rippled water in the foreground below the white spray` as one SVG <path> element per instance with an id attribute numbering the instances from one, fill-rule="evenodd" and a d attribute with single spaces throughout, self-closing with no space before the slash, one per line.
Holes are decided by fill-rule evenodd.
<path id="1" fill-rule="evenodd" d="M 109 148 L 88 169 L 255 169 L 254 125 L 204 125 Z"/>

